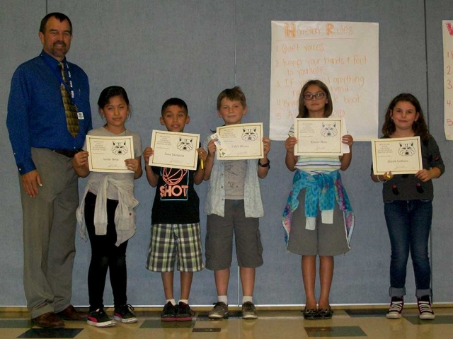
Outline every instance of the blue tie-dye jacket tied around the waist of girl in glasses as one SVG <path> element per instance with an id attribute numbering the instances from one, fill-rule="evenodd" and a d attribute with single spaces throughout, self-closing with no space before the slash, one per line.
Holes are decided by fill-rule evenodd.
<path id="1" fill-rule="evenodd" d="M 299 193 L 306 188 L 305 193 L 305 216 L 306 229 L 314 229 L 312 225 L 318 214 L 318 207 L 323 215 L 323 222 L 332 223 L 333 208 L 338 203 L 340 210 L 343 211 L 345 219 L 346 236 L 348 244 L 351 239 L 352 229 L 354 229 L 355 215 L 349 202 L 348 194 L 341 182 L 341 176 L 338 171 L 324 174 L 318 173 L 311 175 L 304 171 L 296 169 L 292 180 L 292 190 L 289 192 L 285 211 L 283 211 L 282 226 L 285 229 L 285 243 L 288 245 L 289 231 L 291 230 L 292 213 L 299 206 Z M 324 219 L 330 219 L 327 222 Z M 330 222 L 329 222 L 330 221 Z"/>

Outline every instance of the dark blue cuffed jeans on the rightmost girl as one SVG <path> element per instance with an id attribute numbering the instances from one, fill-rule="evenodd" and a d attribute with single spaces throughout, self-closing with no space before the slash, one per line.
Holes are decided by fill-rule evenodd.
<path id="1" fill-rule="evenodd" d="M 384 204 L 391 243 L 390 297 L 406 294 L 406 270 L 411 251 L 415 295 L 432 295 L 428 239 L 432 221 L 431 200 L 395 200 Z"/>

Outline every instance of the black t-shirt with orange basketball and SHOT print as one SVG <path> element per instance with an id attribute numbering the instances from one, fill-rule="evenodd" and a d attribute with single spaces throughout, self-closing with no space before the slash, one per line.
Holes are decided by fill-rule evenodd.
<path id="1" fill-rule="evenodd" d="M 151 167 L 159 176 L 151 224 L 193 224 L 200 222 L 200 199 L 193 188 L 195 171 Z"/>

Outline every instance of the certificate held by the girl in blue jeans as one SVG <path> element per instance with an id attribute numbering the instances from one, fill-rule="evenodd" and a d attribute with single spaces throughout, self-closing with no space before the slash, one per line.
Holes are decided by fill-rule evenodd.
<path id="1" fill-rule="evenodd" d="M 420 137 L 372 139 L 373 173 L 413 174 L 423 168 Z"/>

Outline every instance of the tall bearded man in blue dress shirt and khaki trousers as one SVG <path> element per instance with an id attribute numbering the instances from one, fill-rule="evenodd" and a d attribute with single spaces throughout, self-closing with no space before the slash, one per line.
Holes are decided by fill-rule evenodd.
<path id="1" fill-rule="evenodd" d="M 36 325 L 61 328 L 63 319 L 86 319 L 86 314 L 71 305 L 79 205 L 72 158 L 92 128 L 91 110 L 88 77 L 65 57 L 72 39 L 69 18 L 48 14 L 38 35 L 42 52 L 13 74 L 6 125 L 21 186 L 28 310 Z M 75 137 L 68 130 L 61 85 L 76 105 L 77 119 L 73 120 L 79 132 Z"/>

